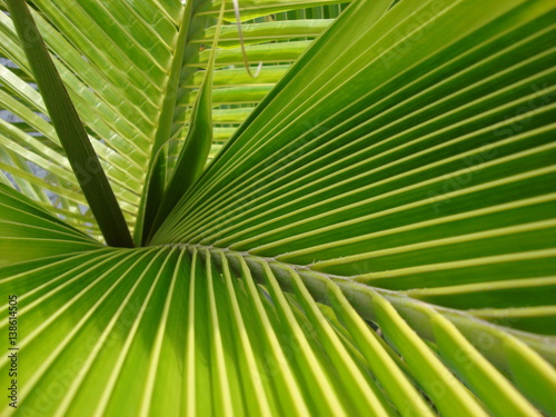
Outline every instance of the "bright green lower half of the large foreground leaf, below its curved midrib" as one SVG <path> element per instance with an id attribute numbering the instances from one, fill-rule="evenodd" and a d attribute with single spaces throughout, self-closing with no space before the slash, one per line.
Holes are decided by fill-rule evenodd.
<path id="1" fill-rule="evenodd" d="M 107 248 L 0 191 L 13 219 L 1 225 L 13 237 L 0 288 L 19 295 L 26 324 L 22 404 L 2 415 L 554 411 L 554 350 L 540 335 L 245 252 Z M 31 245 L 40 254 L 26 259 Z"/>

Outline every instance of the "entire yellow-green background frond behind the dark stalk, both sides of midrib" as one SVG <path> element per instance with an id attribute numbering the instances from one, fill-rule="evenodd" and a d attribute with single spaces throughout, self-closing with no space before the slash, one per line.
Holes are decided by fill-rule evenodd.
<path id="1" fill-rule="evenodd" d="M 32 3 L 37 26 L 133 230 L 157 155 L 162 149 L 171 172 L 187 135 L 220 3 L 197 1 L 190 10 L 179 0 Z M 242 30 L 247 48 L 259 48 L 268 69 L 257 79 L 242 77 L 245 69 L 235 64 L 244 67 L 238 27 L 228 21 L 217 59 L 222 71 L 217 71 L 215 81 L 215 143 L 209 158 L 341 10 L 330 0 L 257 4 L 246 2 L 239 11 L 264 21 L 247 23 Z M 307 7 L 311 9 L 299 10 Z M 16 182 L 28 197 L 102 240 L 78 183 L 87 173 L 72 171 L 1 0 L 0 10 L 0 180 Z M 230 10 L 225 16 L 229 20 Z M 299 41 L 292 48 L 289 40 Z M 236 58 L 226 58 L 227 53 Z M 258 56 L 249 50 L 247 54 L 257 66 Z M 228 72 L 238 70 L 240 77 L 234 80 Z M 170 137 L 173 140 L 167 143 Z"/>

